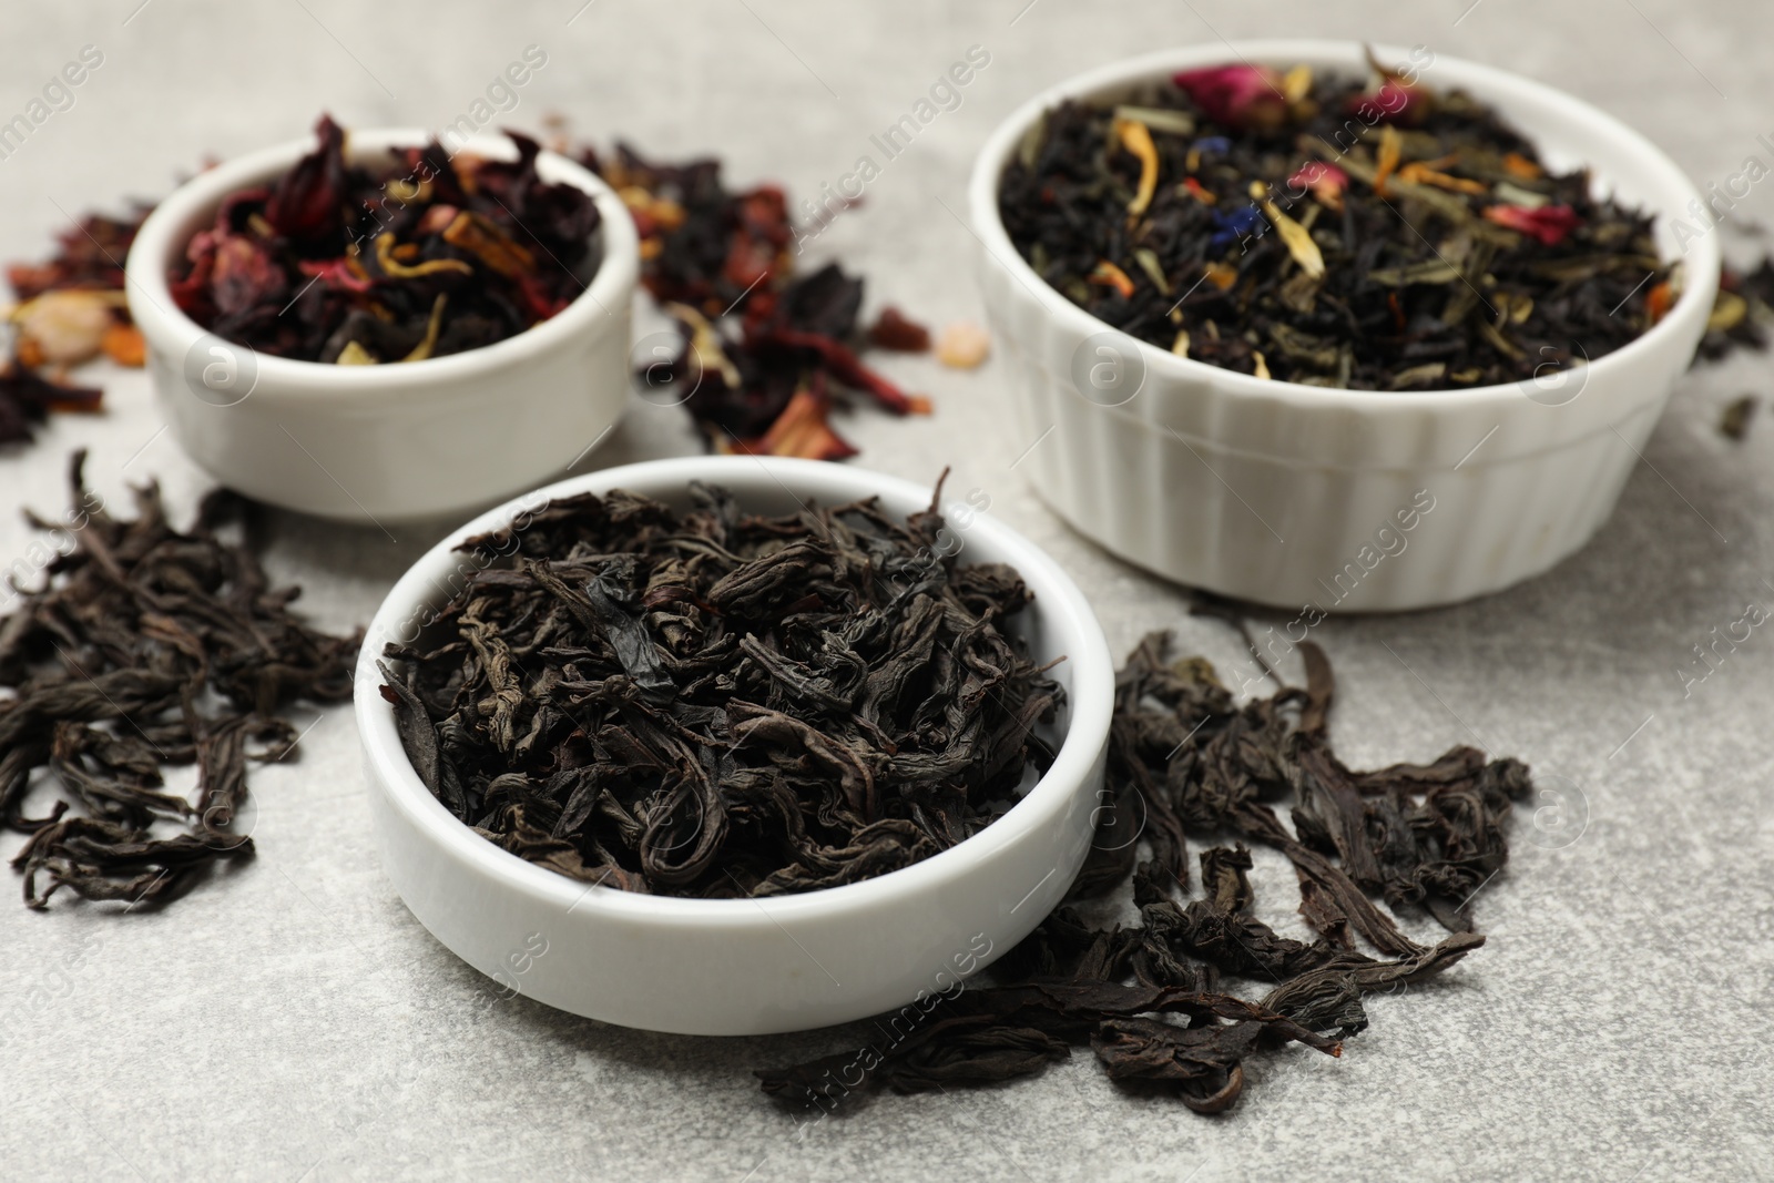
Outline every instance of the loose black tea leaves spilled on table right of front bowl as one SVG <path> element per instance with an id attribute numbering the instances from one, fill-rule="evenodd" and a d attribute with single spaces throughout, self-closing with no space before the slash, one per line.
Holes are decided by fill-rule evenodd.
<path id="1" fill-rule="evenodd" d="M 1217 1114 L 1244 1091 L 1249 1057 L 1290 1041 L 1339 1055 L 1368 1025 L 1362 995 L 1485 944 L 1471 901 L 1508 858 L 1511 803 L 1533 787 L 1524 764 L 1460 747 L 1433 764 L 1352 772 L 1330 750 L 1334 683 L 1315 644 L 1300 644 L 1304 688 L 1244 704 L 1205 660 L 1167 662 L 1167 646 L 1146 637 L 1116 678 L 1114 809 L 1071 890 L 1102 896 L 1132 878 L 1139 924 L 1098 928 L 1064 905 L 988 970 L 992 984 L 882 1016 L 882 1038 L 860 1050 L 759 1071 L 765 1093 L 823 1116 L 852 1093 L 995 1084 L 1089 1045 L 1116 1084 Z M 1199 894 L 1185 835 L 1219 842 L 1199 855 Z M 1247 844 L 1293 864 L 1316 938 L 1256 917 Z M 1428 912 L 1448 936 L 1417 944 L 1377 899 Z"/>

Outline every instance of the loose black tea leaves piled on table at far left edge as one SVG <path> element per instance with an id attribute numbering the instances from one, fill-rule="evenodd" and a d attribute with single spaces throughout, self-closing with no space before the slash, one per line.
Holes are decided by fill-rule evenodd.
<path id="1" fill-rule="evenodd" d="M 12 866 L 32 908 L 62 887 L 163 901 L 250 855 L 247 763 L 289 756 L 293 704 L 351 697 L 358 647 L 289 610 L 298 589 L 270 585 L 250 536 L 225 541 L 231 521 L 250 529 L 250 502 L 211 493 L 179 532 L 149 484 L 124 521 L 85 488 L 83 461 L 67 514 L 30 518 L 53 539 L 27 559 L 41 587 L 20 587 L 14 564 L 23 603 L 0 617 L 0 821 L 30 835 Z M 197 764 L 195 800 L 165 791 L 177 764 Z M 28 818 L 37 770 L 60 800 Z"/>

